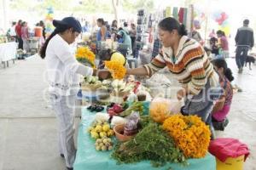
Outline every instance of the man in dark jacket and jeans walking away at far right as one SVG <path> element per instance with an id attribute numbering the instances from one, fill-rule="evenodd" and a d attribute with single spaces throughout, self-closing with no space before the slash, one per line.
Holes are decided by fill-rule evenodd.
<path id="1" fill-rule="evenodd" d="M 248 50 L 254 46 L 253 29 L 248 26 L 249 20 L 243 20 L 243 26 L 236 32 L 236 65 L 238 73 L 242 72 Z"/>

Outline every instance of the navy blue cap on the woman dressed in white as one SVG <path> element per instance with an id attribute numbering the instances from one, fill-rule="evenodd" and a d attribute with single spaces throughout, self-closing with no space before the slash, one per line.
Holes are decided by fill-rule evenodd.
<path id="1" fill-rule="evenodd" d="M 74 17 L 66 17 L 62 20 L 53 20 L 53 25 L 55 27 L 59 26 L 71 26 L 73 27 L 74 31 L 81 32 L 82 31 L 82 26 L 79 22 L 79 20 L 76 20 Z"/>

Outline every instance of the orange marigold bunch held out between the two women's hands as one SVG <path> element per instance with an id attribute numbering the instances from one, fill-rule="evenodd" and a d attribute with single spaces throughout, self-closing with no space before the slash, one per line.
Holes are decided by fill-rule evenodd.
<path id="1" fill-rule="evenodd" d="M 108 71 L 111 72 L 113 79 L 123 79 L 125 77 L 126 69 L 125 66 L 119 60 L 105 61 L 105 66 Z"/>

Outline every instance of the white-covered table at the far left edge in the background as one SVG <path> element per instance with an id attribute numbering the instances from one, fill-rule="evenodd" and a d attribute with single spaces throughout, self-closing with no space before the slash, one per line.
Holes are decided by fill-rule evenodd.
<path id="1" fill-rule="evenodd" d="M 9 60 L 13 59 L 15 63 L 17 54 L 17 43 L 16 42 L 5 42 L 0 43 L 0 62 L 4 65 L 7 63 L 9 66 Z"/>

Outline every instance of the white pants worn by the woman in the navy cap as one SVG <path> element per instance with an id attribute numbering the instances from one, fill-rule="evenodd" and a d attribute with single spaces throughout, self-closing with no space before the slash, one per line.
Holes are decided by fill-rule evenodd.
<path id="1" fill-rule="evenodd" d="M 65 156 L 67 167 L 73 167 L 76 154 L 73 139 L 75 132 L 75 99 L 76 95 L 60 96 L 50 94 L 50 101 L 59 124 L 59 150 L 60 154 Z"/>

